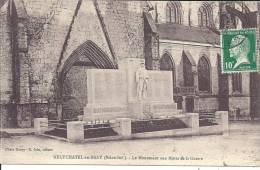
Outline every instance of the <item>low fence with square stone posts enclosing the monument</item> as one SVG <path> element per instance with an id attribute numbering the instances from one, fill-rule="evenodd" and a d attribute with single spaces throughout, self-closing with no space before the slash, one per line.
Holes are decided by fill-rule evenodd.
<path id="1" fill-rule="evenodd" d="M 54 136 L 69 142 L 91 142 L 131 138 L 153 138 L 192 136 L 228 133 L 228 112 L 217 111 L 214 124 L 200 126 L 198 113 L 186 113 L 172 117 L 151 119 L 117 118 L 103 121 L 48 121 L 47 118 L 34 120 L 35 134 Z M 204 117 L 205 118 L 205 117 Z M 51 133 L 51 130 L 60 134 Z"/>

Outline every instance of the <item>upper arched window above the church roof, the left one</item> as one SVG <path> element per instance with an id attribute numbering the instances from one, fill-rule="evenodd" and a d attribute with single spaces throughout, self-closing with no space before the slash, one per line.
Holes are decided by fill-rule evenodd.
<path id="1" fill-rule="evenodd" d="M 178 1 L 168 2 L 166 5 L 166 22 L 182 23 L 181 3 Z"/>

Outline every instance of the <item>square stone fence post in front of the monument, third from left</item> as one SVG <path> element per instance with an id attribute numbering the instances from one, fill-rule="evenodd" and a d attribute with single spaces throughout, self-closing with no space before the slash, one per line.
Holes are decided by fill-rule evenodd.
<path id="1" fill-rule="evenodd" d="M 131 119 L 130 118 L 117 118 L 116 119 L 116 126 L 113 128 L 120 136 L 123 138 L 130 138 L 131 137 Z"/>

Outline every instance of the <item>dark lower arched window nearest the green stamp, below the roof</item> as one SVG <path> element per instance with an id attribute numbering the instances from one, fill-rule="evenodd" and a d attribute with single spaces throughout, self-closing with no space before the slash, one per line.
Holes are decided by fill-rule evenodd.
<path id="1" fill-rule="evenodd" d="M 210 92 L 210 65 L 204 56 L 198 63 L 198 84 L 199 91 Z"/>

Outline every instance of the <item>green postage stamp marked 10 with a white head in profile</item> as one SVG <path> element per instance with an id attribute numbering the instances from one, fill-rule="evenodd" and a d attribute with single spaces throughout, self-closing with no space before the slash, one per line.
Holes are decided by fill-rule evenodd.
<path id="1" fill-rule="evenodd" d="M 256 30 L 221 32 L 222 73 L 256 72 Z"/>

